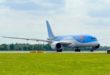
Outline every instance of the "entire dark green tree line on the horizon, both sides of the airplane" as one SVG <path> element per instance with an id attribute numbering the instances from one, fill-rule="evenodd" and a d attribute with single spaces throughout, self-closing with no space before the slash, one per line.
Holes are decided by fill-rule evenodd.
<path id="1" fill-rule="evenodd" d="M 90 50 L 89 47 L 80 48 L 81 50 Z M 98 50 L 108 50 L 110 47 L 108 46 L 101 46 Z M 0 51 L 31 51 L 31 50 L 52 50 L 49 44 L 1 44 Z M 74 48 L 64 48 L 64 50 L 73 51 Z"/>

